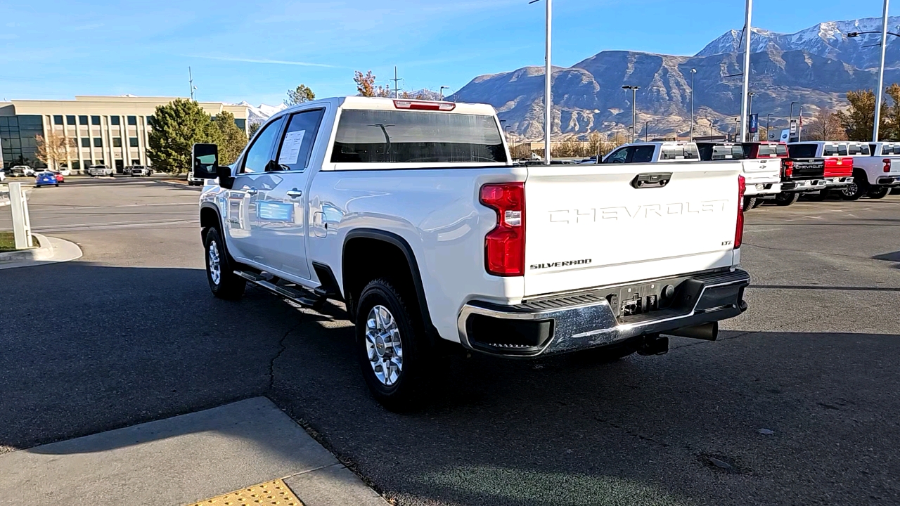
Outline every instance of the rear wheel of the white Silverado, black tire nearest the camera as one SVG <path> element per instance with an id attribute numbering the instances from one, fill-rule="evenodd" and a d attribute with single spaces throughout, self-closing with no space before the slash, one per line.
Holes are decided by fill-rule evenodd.
<path id="1" fill-rule="evenodd" d="M 389 345 L 388 339 L 376 337 L 374 346 L 370 347 L 369 339 L 366 338 L 369 315 L 378 306 L 389 313 L 391 321 L 396 326 L 396 335 L 400 338 L 399 372 L 394 343 L 391 342 Z M 402 294 L 390 281 L 375 279 L 363 288 L 356 308 L 356 356 L 369 391 L 375 400 L 388 410 L 408 411 L 417 407 L 421 402 L 422 393 L 428 387 L 428 370 L 434 354 L 425 335 L 421 318 L 417 316 L 419 308 L 415 299 Z M 379 314 L 384 316 L 383 312 Z M 383 318 L 382 327 L 390 328 L 386 321 Z M 378 330 L 380 323 L 373 319 L 373 324 L 373 330 Z M 376 369 L 380 368 L 381 374 L 384 375 L 385 358 L 388 374 L 385 380 L 382 380 L 379 379 Z"/>

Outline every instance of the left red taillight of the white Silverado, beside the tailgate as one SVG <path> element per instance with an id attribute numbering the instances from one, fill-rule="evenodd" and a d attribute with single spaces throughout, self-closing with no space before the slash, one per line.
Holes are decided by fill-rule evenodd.
<path id="1" fill-rule="evenodd" d="M 525 183 L 483 185 L 481 201 L 497 211 L 484 237 L 484 268 L 494 276 L 525 275 Z"/>

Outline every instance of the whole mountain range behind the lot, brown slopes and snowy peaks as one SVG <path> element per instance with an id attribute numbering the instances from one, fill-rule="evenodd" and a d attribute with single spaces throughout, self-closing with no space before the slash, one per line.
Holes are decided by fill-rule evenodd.
<path id="1" fill-rule="evenodd" d="M 896 32 L 900 17 L 889 18 Z M 765 126 L 784 128 L 790 103 L 806 118 L 822 108 L 841 109 L 849 90 L 877 83 L 881 19 L 819 23 L 796 33 L 753 28 L 751 33 L 752 112 Z M 875 32 L 849 38 L 850 32 Z M 893 38 L 891 38 L 893 39 Z M 743 32 L 725 32 L 694 56 L 609 50 L 572 67 L 554 67 L 554 136 L 584 136 L 590 131 L 624 136 L 632 122 L 631 92 L 636 96 L 640 137 L 679 133 L 690 128 L 691 69 L 696 69 L 695 134 L 735 131 L 741 112 Z M 888 40 L 886 86 L 900 79 L 900 44 Z M 519 138 L 544 135 L 544 68 L 475 77 L 450 100 L 492 104 Z M 794 108 L 795 116 L 799 113 Z M 771 114 L 770 120 L 767 115 Z M 808 120 L 807 120 L 808 121 Z"/>

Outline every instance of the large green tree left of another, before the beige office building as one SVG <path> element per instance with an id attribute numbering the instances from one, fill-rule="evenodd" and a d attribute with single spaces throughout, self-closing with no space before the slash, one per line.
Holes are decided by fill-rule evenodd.
<path id="1" fill-rule="evenodd" d="M 181 174 L 191 167 L 193 144 L 219 140 L 219 135 L 210 115 L 200 104 L 176 98 L 169 104 L 157 105 L 153 128 L 149 131 L 147 156 L 153 162 L 154 170 Z"/>

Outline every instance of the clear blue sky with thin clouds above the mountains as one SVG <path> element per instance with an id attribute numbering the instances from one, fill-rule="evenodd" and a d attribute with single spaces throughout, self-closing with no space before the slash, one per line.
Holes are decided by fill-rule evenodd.
<path id="1" fill-rule="evenodd" d="M 555 0 L 554 65 L 601 50 L 693 54 L 743 25 L 743 1 Z M 879 0 L 757 0 L 753 25 L 796 32 L 881 15 Z M 7 1 L 0 10 L 0 100 L 187 95 L 278 104 L 303 83 L 353 95 L 353 71 L 381 84 L 450 86 L 543 65 L 544 4 L 527 0 L 237 2 Z M 892 14 L 897 14 L 892 10 Z"/>

